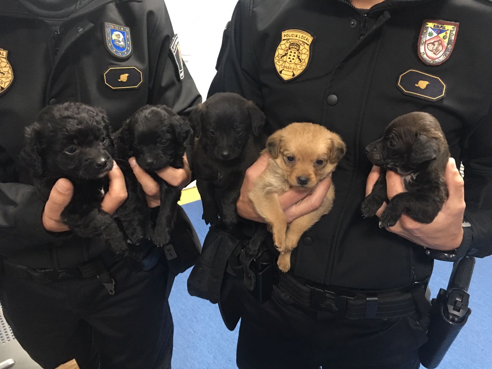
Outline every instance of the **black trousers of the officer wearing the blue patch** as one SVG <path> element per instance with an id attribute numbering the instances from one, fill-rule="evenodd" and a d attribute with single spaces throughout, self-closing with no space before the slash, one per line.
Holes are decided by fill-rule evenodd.
<path id="1" fill-rule="evenodd" d="M 173 321 L 168 269 L 130 272 L 124 260 L 110 269 L 115 295 L 97 277 L 39 283 L 5 275 L 3 313 L 15 337 L 43 368 L 76 359 L 81 369 L 168 369 Z"/>

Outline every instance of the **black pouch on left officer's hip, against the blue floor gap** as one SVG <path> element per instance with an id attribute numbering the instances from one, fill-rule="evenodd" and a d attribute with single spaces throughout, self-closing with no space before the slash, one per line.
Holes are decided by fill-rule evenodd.
<path id="1" fill-rule="evenodd" d="M 171 242 L 163 247 L 170 272 L 177 276 L 195 265 L 202 246 L 193 225 L 183 208 L 178 205 Z"/>

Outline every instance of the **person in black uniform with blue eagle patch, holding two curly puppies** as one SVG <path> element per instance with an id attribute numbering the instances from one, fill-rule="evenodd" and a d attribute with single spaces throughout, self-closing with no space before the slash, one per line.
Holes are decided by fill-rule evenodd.
<path id="1" fill-rule="evenodd" d="M 48 104 L 104 108 L 113 129 L 145 104 L 185 114 L 201 101 L 162 0 L 3 0 L 0 7 L 0 301 L 13 332 L 43 368 L 170 368 L 169 268 L 154 246 L 116 256 L 60 221 L 73 187 L 60 179 L 43 203 L 19 166 L 24 127 Z M 133 162 L 158 206 L 158 186 Z M 159 174 L 183 187 L 184 169 Z M 9 177 L 9 178 L 6 178 Z M 5 183 L 7 182 L 7 183 Z M 118 167 L 102 207 L 126 188 Z M 114 294 L 112 294 L 114 291 Z"/>

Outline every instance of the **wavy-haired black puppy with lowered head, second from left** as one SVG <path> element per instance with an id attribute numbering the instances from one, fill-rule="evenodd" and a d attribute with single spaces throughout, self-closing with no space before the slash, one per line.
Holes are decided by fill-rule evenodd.
<path id="1" fill-rule="evenodd" d="M 140 108 L 115 134 L 119 157 L 135 156 L 138 165 L 159 184 L 160 209 L 152 236 L 157 246 L 170 241 L 181 190 L 161 179 L 155 171 L 167 166 L 183 168 L 190 135 L 189 124 L 165 105 Z"/>

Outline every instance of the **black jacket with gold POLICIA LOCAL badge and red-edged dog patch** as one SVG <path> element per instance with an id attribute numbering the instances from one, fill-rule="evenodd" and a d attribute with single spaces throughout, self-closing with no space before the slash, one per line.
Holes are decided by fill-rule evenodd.
<path id="1" fill-rule="evenodd" d="M 471 228 L 461 250 L 491 254 L 492 43 L 478 37 L 490 19 L 486 0 L 386 0 L 367 16 L 348 0 L 239 1 L 209 94 L 252 99 L 271 130 L 322 124 L 348 148 L 333 174 L 333 209 L 293 254 L 296 276 L 367 289 L 430 276 L 423 247 L 360 212 L 371 169 L 365 146 L 411 111 L 433 114 L 464 163 Z"/>

